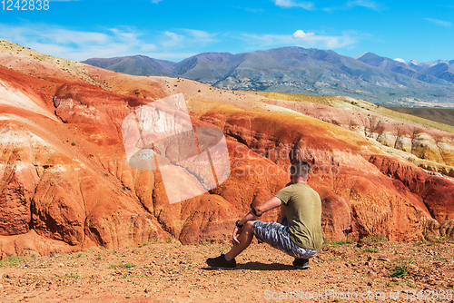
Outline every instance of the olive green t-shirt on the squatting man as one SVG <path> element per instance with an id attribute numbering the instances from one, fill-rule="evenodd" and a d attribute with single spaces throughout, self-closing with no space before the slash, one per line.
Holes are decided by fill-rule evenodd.
<path id="1" fill-rule="evenodd" d="M 291 240 L 303 249 L 321 249 L 325 235 L 321 230 L 321 200 L 317 191 L 305 183 L 296 183 L 275 196 L 284 203 Z"/>

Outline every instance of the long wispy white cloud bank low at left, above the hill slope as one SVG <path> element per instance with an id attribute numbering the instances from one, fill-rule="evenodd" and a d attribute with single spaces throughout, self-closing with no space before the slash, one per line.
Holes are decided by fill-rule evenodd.
<path id="1" fill-rule="evenodd" d="M 143 54 L 168 60 L 184 59 L 218 42 L 217 35 L 196 29 L 145 33 L 134 27 L 78 31 L 49 24 L 1 24 L 2 38 L 37 52 L 70 60 Z M 150 43 L 153 41 L 153 43 Z M 202 52 L 201 52 L 202 53 Z"/>

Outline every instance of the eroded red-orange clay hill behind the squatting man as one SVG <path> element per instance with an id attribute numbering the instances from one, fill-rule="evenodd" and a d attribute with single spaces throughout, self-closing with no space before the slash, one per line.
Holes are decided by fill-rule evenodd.
<path id="1" fill-rule="evenodd" d="M 2 254 L 133 246 L 171 237 L 183 244 L 228 240 L 235 220 L 288 181 L 292 159 L 312 163 L 310 183 L 321 195 L 330 239 L 453 236 L 449 169 L 425 171 L 390 151 L 396 142 L 390 146 L 336 125 L 354 117 L 354 110 L 324 109 L 332 118 L 325 122 L 317 107 L 303 114 L 293 104 L 251 93 L 114 73 L 5 40 L 0 65 Z M 183 93 L 194 126 L 223 131 L 232 171 L 212 191 L 169 204 L 159 171 L 128 165 L 122 122 L 134 109 L 175 93 Z M 437 136 L 444 145 L 429 161 L 452 165 L 452 134 L 421 128 L 418 136 L 421 144 Z M 430 152 L 422 154 L 428 160 Z M 263 220 L 276 216 L 274 211 Z"/>

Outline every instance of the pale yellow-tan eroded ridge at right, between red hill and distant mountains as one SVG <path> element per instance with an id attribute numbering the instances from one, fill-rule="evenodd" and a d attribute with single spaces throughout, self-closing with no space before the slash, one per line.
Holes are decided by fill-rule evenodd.
<path id="1" fill-rule="evenodd" d="M 358 132 L 380 142 L 385 148 L 390 147 L 388 152 L 398 153 L 424 169 L 454 176 L 452 132 L 442 132 L 415 122 L 402 122 L 383 115 L 375 104 L 349 98 L 332 98 L 330 105 L 275 99 L 263 102 Z M 361 111 L 356 109 L 357 105 L 360 105 Z"/>

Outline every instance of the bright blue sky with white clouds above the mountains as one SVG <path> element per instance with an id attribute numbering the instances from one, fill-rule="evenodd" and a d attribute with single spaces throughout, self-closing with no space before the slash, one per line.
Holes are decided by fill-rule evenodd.
<path id="1" fill-rule="evenodd" d="M 7 5 L 0 2 L 1 38 L 77 61 L 144 54 L 178 62 L 281 46 L 454 59 L 452 0 L 54 0 L 45 11 Z"/>

